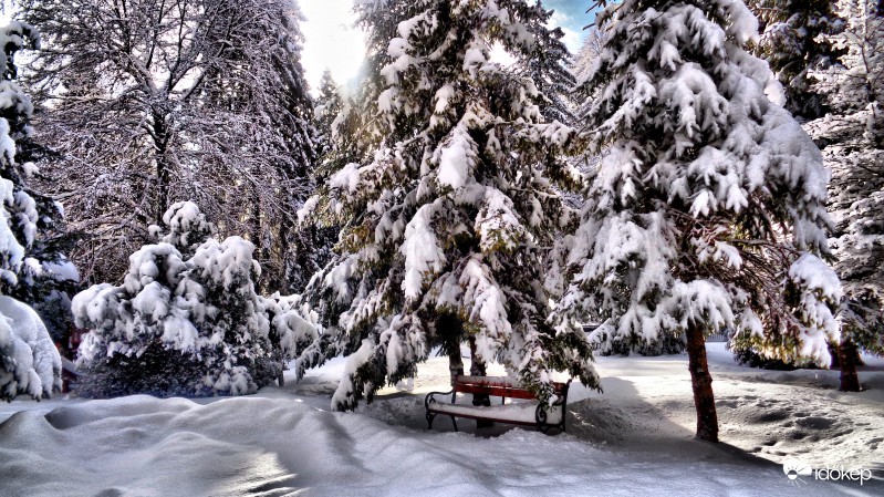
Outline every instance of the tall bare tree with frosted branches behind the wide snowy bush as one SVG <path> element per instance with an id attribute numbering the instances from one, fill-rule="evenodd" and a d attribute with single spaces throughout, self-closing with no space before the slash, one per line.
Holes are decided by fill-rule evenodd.
<path id="1" fill-rule="evenodd" d="M 291 219 L 314 155 L 294 3 L 21 3 L 44 39 L 30 75 L 37 120 L 62 155 L 44 165 L 45 187 L 92 235 L 74 255 L 84 276 L 117 278 L 147 227 L 188 199 L 220 235 L 247 234 L 284 290 L 287 260 L 306 251 Z"/>

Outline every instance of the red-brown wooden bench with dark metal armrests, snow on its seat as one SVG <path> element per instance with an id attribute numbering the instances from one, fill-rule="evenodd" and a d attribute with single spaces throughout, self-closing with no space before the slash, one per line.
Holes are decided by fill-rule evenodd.
<path id="1" fill-rule="evenodd" d="M 457 376 L 449 392 L 430 392 L 424 398 L 427 410 L 428 428 L 433 429 L 433 420 L 437 415 L 450 416 L 457 431 L 455 417 L 486 420 L 499 423 L 537 426 L 547 433 L 550 428 L 564 432 L 565 405 L 568 404 L 568 383 L 553 383 L 555 402 L 545 410 L 538 402 L 507 404 L 507 398 L 534 400 L 534 395 L 523 389 L 516 380 L 501 376 Z M 485 394 L 501 397 L 501 403 L 491 406 L 457 404 L 457 394 Z M 451 402 L 447 402 L 447 396 Z"/>

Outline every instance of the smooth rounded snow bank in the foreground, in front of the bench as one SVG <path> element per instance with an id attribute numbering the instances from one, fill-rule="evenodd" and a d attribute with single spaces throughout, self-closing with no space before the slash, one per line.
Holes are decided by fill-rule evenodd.
<path id="1" fill-rule="evenodd" d="M 243 420 L 249 420 L 243 423 Z M 779 466 L 623 457 L 571 436 L 495 438 L 387 426 L 290 398 L 208 405 L 133 396 L 0 424 L 0 494 L 79 495 L 803 495 Z M 35 444 L 35 441 L 39 443 Z M 40 447 L 35 451 L 34 447 Z M 831 489 L 831 487 L 814 487 Z M 825 491 L 823 493 L 825 494 Z M 821 494 L 822 495 L 822 494 Z M 829 494 L 833 495 L 833 494 Z"/>

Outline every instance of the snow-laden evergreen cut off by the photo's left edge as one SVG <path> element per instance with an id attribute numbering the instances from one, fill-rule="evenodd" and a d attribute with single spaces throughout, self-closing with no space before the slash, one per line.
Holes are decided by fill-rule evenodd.
<path id="1" fill-rule="evenodd" d="M 61 386 L 61 358 L 45 325 L 33 309 L 10 297 L 31 294 L 34 279 L 44 270 L 49 278 L 54 276 L 50 266 L 54 261 L 31 252 L 45 206 L 38 205 L 24 186 L 35 166 L 22 163 L 17 149 L 17 142 L 33 133 L 31 99 L 14 81 L 14 56 L 29 44 L 40 44 L 30 25 L 11 22 L 0 28 L 0 398 L 4 401 L 19 394 L 48 397 Z M 56 266 L 63 272 L 62 265 Z"/>

